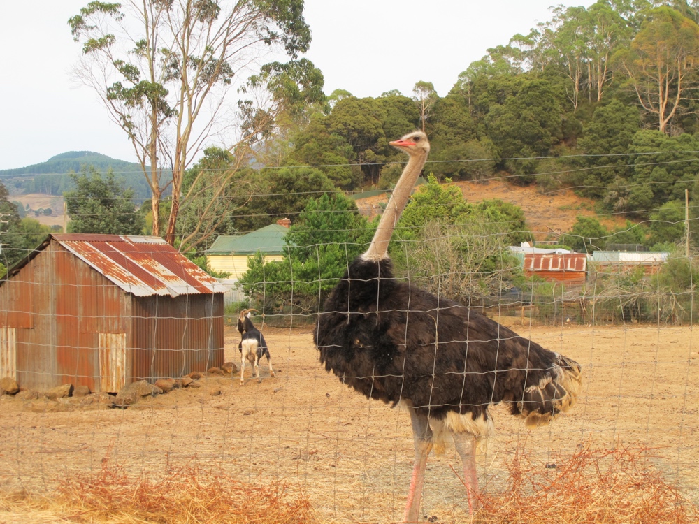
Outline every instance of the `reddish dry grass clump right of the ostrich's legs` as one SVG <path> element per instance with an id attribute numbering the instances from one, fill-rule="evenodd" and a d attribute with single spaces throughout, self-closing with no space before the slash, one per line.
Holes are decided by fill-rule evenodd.
<path id="1" fill-rule="evenodd" d="M 665 481 L 656 450 L 581 446 L 570 458 L 533 465 L 524 449 L 508 465 L 503 493 L 484 495 L 477 523 L 696 523 L 699 508 Z M 542 467 L 544 466 L 544 467 Z"/>

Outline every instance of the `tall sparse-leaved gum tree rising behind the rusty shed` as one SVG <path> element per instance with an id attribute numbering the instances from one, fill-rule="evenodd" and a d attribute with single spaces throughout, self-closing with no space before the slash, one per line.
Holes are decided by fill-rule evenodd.
<path id="1" fill-rule="evenodd" d="M 150 185 L 154 235 L 161 234 L 160 203 L 171 187 L 164 236 L 174 244 L 182 180 L 206 142 L 238 131 L 230 149 L 240 159 L 271 129 L 280 92 L 240 103 L 243 131 L 231 124 L 235 106 L 226 95 L 270 54 L 295 59 L 308 50 L 303 0 L 92 1 L 69 25 L 82 43 L 75 75 L 127 133 Z M 288 68 L 276 72 L 288 76 Z M 264 80 L 254 87 L 273 83 L 269 75 Z"/>

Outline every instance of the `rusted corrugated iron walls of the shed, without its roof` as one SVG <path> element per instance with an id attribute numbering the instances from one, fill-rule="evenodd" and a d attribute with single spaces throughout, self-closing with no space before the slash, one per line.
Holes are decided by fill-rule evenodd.
<path id="1" fill-rule="evenodd" d="M 223 293 L 206 291 L 134 296 L 51 240 L 0 286 L 0 328 L 13 330 L 15 379 L 38 391 L 66 383 L 118 391 L 132 380 L 222 365 Z"/>

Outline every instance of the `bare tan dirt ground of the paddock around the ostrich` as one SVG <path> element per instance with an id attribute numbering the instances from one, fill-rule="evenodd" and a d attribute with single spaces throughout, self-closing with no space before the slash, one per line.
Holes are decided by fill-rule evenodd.
<path id="1" fill-rule="evenodd" d="M 592 441 L 656 448 L 656 465 L 698 500 L 693 330 L 498 320 L 575 358 L 584 367 L 584 386 L 575 408 L 544 428 L 528 430 L 503 407 L 493 409 L 496 435 L 479 458 L 484 489 L 504 485 L 518 444 L 526 443 L 533 464 L 543 468 Z M 99 470 L 109 454 L 134 473 L 159 475 L 168 463 L 188 463 L 254 482 L 282 479 L 305 490 L 328 522 L 398 521 L 412 465 L 408 414 L 367 400 L 327 374 L 311 330 L 264 328 L 276 377 L 262 366 L 261 384 L 250 379 L 250 370 L 245 386 L 239 377 L 207 377 L 201 388 L 124 410 L 0 398 L 0 490 L 50 493 L 72 472 Z M 237 344 L 238 334 L 226 328 L 227 360 L 238 361 Z M 468 520 L 463 486 L 449 468 L 458 471 L 458 464 L 454 449 L 428 463 L 423 509 L 440 523 Z"/>

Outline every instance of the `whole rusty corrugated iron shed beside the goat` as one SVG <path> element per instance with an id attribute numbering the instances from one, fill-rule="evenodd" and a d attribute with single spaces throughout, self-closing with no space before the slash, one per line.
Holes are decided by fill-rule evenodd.
<path id="1" fill-rule="evenodd" d="M 219 289 L 160 238 L 50 235 L 0 280 L 0 373 L 115 392 L 222 365 Z"/>

